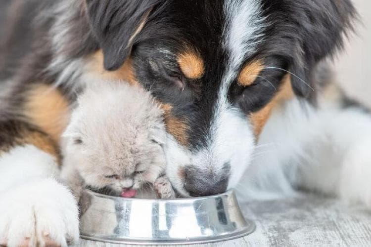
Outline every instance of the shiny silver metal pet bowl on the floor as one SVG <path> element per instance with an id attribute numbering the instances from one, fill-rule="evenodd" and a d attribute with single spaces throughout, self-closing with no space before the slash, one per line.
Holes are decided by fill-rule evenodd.
<path id="1" fill-rule="evenodd" d="M 232 190 L 186 199 L 148 200 L 89 192 L 91 206 L 81 216 L 81 237 L 119 244 L 200 244 L 252 233 Z"/>

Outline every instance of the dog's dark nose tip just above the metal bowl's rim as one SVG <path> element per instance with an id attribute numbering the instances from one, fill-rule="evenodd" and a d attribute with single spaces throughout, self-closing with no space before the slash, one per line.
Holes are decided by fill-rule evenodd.
<path id="1" fill-rule="evenodd" d="M 216 174 L 192 166 L 185 168 L 185 190 L 192 197 L 211 196 L 227 190 L 228 171 Z"/>

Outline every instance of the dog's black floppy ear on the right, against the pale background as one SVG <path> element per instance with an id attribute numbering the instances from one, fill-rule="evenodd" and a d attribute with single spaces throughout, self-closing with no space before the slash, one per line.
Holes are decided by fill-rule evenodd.
<path id="1" fill-rule="evenodd" d="M 298 96 L 311 98 L 315 95 L 312 75 L 315 66 L 343 46 L 344 36 L 353 30 L 357 14 L 350 0 L 289 2 L 291 21 L 287 28 L 295 40 L 290 47 L 292 88 Z"/>

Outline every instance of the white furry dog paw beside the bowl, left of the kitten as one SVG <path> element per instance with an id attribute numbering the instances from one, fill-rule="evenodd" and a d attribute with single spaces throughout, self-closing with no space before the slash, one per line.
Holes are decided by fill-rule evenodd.
<path id="1" fill-rule="evenodd" d="M 54 179 L 18 185 L 0 198 L 0 245 L 67 247 L 78 242 L 77 204 Z"/>

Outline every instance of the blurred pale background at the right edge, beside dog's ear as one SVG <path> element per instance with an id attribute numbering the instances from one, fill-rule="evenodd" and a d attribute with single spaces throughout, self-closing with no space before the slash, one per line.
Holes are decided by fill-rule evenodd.
<path id="1" fill-rule="evenodd" d="M 356 35 L 335 59 L 336 79 L 345 92 L 371 108 L 371 0 L 353 0 L 362 19 Z"/>

